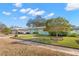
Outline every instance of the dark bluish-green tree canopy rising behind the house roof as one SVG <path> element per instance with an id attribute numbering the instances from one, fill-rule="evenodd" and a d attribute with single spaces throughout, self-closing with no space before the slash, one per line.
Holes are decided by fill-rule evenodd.
<path id="1" fill-rule="evenodd" d="M 34 27 L 41 27 L 41 26 L 45 26 L 45 22 L 46 20 L 44 18 L 42 18 L 40 15 L 37 15 L 34 19 L 29 19 L 27 22 L 27 26 L 31 26 L 31 24 Z"/>

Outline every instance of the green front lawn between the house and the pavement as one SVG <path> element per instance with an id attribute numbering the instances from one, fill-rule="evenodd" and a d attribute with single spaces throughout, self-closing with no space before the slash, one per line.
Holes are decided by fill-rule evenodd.
<path id="1" fill-rule="evenodd" d="M 79 48 L 79 44 L 76 42 L 76 40 L 79 40 L 78 37 L 63 37 L 63 40 L 61 41 L 54 41 L 50 40 L 51 36 L 36 36 L 38 37 L 37 39 L 32 39 L 34 36 L 36 35 L 27 34 L 27 35 L 19 35 L 18 37 L 24 40 L 31 39 L 32 41 L 44 44 L 54 44 L 71 48 Z"/>

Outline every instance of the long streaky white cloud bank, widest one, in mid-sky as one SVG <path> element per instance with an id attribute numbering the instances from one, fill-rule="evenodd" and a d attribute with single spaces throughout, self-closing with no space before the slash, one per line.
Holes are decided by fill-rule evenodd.
<path id="1" fill-rule="evenodd" d="M 45 13 L 44 10 L 40 10 L 39 8 L 36 8 L 36 9 L 22 8 L 22 9 L 20 9 L 20 12 L 21 13 L 27 13 L 27 14 L 32 15 L 32 16 L 43 15 Z"/>

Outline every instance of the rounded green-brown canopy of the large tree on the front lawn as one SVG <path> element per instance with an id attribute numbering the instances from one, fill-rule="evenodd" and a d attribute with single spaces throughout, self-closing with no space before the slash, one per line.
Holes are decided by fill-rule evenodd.
<path id="1" fill-rule="evenodd" d="M 70 23 L 63 17 L 51 18 L 46 22 L 46 31 L 53 33 L 66 33 L 71 31 Z"/>

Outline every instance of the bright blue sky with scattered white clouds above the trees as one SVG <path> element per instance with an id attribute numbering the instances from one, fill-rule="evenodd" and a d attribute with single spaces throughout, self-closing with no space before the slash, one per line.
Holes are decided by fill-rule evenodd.
<path id="1" fill-rule="evenodd" d="M 79 3 L 0 3 L 0 22 L 8 27 L 27 27 L 27 21 L 36 15 L 64 17 L 79 26 Z"/>

